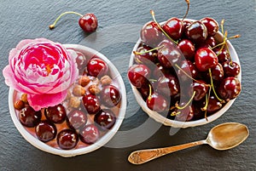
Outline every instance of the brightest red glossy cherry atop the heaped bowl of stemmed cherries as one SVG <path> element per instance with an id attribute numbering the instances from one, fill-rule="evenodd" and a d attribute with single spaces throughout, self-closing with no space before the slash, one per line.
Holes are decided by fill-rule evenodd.
<path id="1" fill-rule="evenodd" d="M 199 71 L 207 71 L 218 64 L 217 55 L 210 48 L 199 48 L 195 52 L 195 66 Z"/>

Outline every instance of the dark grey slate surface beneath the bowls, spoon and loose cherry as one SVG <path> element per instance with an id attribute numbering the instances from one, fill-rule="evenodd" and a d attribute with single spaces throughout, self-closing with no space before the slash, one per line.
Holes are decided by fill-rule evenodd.
<path id="1" fill-rule="evenodd" d="M 137 26 L 143 26 L 151 20 L 149 10 L 154 9 L 159 21 L 172 16 L 182 17 L 186 4 L 183 0 L 23 0 L 0 2 L 0 68 L 8 64 L 9 50 L 25 38 L 46 37 L 60 43 L 83 43 L 99 49 L 114 64 L 121 64 L 127 88 L 132 97 L 131 88 L 125 77 L 131 49 L 139 36 Z M 92 12 L 99 20 L 96 34 L 86 35 L 79 28 L 79 17 L 67 15 L 61 19 L 54 31 L 48 26 L 62 12 L 73 10 L 82 14 Z M 255 0 L 191 0 L 188 18 L 200 20 L 213 17 L 226 20 L 225 29 L 229 35 L 241 34 L 241 38 L 232 40 L 241 60 L 242 92 L 234 105 L 217 121 L 196 128 L 185 128 L 170 136 L 170 128 L 162 126 L 148 140 L 126 148 L 108 148 L 91 152 L 79 157 L 64 158 L 39 151 L 26 142 L 12 123 L 8 108 L 8 90 L 0 77 L 0 171 L 6 170 L 256 170 L 256 43 L 255 43 Z M 131 29 L 129 26 L 131 25 Z M 125 27 L 124 27 L 125 26 Z M 104 37 L 106 29 L 111 28 L 113 37 Z M 134 29 L 133 29 L 134 28 Z M 133 35 L 133 36 L 130 36 Z M 106 36 L 106 35 L 105 35 Z M 102 39 L 103 37 L 103 39 Z M 116 39 L 119 39 L 116 41 Z M 104 42 L 102 42 L 104 40 Z M 129 40 L 125 42 L 125 40 Z M 101 46 L 97 46 L 99 43 Z M 116 42 L 115 42 L 116 41 Z M 105 44 L 106 43 L 106 44 Z M 103 47 L 103 48 L 102 48 Z M 120 58 L 119 58 L 120 57 Z M 121 59 L 119 61 L 118 59 Z M 127 60 L 128 61 L 128 60 Z M 132 103 L 132 101 L 130 101 Z M 128 105 L 127 115 L 133 105 Z M 123 123 L 121 129 L 136 128 L 148 119 L 143 111 L 137 111 Z M 131 151 L 166 145 L 178 145 L 194 140 L 202 140 L 207 132 L 218 123 L 244 123 L 250 130 L 250 136 L 241 145 L 230 151 L 216 151 L 208 145 L 201 145 L 185 151 L 178 151 L 141 166 L 134 166 L 126 158 Z M 144 130 L 148 131 L 147 129 Z M 123 141 L 139 139 L 139 134 L 124 137 Z"/>

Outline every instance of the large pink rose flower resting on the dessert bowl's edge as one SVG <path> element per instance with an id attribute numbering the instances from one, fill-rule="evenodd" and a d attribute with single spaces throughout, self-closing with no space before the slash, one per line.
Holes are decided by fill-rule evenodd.
<path id="1" fill-rule="evenodd" d="M 78 78 L 77 54 L 45 38 L 21 41 L 9 53 L 5 83 L 26 93 L 35 111 L 60 104 Z"/>

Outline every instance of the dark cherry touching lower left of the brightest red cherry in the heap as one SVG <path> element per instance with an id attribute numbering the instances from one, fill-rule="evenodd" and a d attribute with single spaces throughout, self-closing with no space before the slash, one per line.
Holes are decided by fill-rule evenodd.
<path id="1" fill-rule="evenodd" d="M 190 77 L 195 78 L 198 75 L 199 71 L 195 67 L 194 63 L 192 63 L 190 60 L 181 61 L 181 64 L 179 67 L 181 69 L 177 70 L 177 76 L 182 81 L 187 81 L 187 80 L 191 79 Z M 185 74 L 184 72 L 186 72 L 187 74 Z M 188 75 L 189 75 L 189 77 L 188 77 Z"/>

